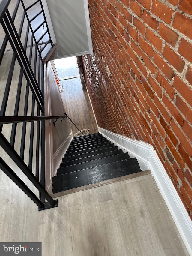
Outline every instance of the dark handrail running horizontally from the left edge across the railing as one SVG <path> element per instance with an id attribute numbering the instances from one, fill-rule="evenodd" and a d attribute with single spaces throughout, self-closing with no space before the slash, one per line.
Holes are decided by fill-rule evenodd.
<path id="1" fill-rule="evenodd" d="M 42 120 L 52 120 L 52 119 L 59 119 L 59 118 L 65 118 L 65 117 L 69 118 L 69 116 L 66 116 L 66 115 L 65 116 L 0 116 L 0 125 L 23 123 L 23 122 L 34 122 L 34 121 L 42 121 Z"/>

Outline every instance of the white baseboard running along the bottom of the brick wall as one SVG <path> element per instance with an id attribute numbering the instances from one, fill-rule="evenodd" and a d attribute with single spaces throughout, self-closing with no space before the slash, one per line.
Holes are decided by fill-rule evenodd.
<path id="1" fill-rule="evenodd" d="M 141 162 L 148 165 L 175 221 L 183 242 L 189 254 L 192 255 L 192 221 L 153 147 L 142 141 L 131 140 L 100 127 L 98 130 L 114 144 L 135 156 L 139 163 Z"/>

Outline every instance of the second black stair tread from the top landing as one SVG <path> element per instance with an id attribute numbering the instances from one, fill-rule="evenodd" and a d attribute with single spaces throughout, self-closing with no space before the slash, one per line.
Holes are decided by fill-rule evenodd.
<path id="1" fill-rule="evenodd" d="M 118 154 L 118 155 L 112 155 L 112 156 L 107 156 L 107 157 L 104 157 L 104 158 L 91 160 L 91 161 L 81 163 L 81 164 L 73 164 L 71 166 L 62 167 L 62 168 L 57 169 L 57 175 L 62 175 L 64 173 L 71 173 L 71 172 L 75 172 L 75 171 L 80 171 L 80 170 L 83 170 L 83 169 L 88 169 L 88 168 L 96 167 L 96 166 L 99 166 L 99 165 L 109 164 L 109 163 L 129 159 L 129 158 L 130 157 L 129 157 L 128 153 L 122 153 L 122 154 Z"/>

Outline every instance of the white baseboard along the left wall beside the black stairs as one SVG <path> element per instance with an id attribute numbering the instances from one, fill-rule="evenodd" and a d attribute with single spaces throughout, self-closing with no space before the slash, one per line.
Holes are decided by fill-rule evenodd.
<path id="1" fill-rule="evenodd" d="M 57 151 L 53 155 L 53 163 L 54 163 L 54 174 L 53 176 L 56 175 L 57 169 L 59 168 L 59 165 L 64 157 L 64 154 L 67 151 L 67 148 L 73 139 L 73 133 L 69 134 L 69 136 L 66 138 L 66 140 L 61 144 L 61 146 L 57 149 Z"/>

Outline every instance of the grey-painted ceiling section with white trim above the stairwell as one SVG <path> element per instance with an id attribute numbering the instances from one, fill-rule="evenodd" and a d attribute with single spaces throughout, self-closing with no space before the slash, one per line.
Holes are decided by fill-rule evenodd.
<path id="1" fill-rule="evenodd" d="M 45 1 L 43 1 L 45 2 Z M 52 59 L 92 52 L 87 0 L 46 0 L 57 51 Z M 45 11 L 46 8 L 44 7 Z M 51 32 L 51 26 L 49 26 Z M 52 34 L 52 33 L 51 33 Z M 54 36 L 53 39 L 54 41 Z"/>

